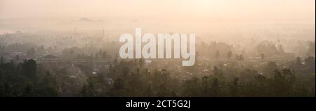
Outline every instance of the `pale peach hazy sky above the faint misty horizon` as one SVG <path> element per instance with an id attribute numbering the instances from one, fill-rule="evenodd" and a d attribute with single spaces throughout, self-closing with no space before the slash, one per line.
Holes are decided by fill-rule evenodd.
<path id="1" fill-rule="evenodd" d="M 164 18 L 315 23 L 315 0 L 0 0 L 0 18 Z"/>

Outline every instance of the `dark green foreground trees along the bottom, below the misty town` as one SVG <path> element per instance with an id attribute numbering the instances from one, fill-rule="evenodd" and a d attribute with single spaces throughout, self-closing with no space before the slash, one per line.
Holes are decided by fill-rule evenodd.
<path id="1" fill-rule="evenodd" d="M 315 96 L 312 57 L 304 65 L 294 60 L 295 71 L 270 62 L 263 68 L 267 74 L 249 67 L 213 67 L 202 76 L 184 78 L 181 72 L 150 70 L 140 61 L 112 64 L 108 70 L 86 74 L 82 81 L 69 77 L 65 68 L 50 71 L 32 59 L 1 63 L 0 96 Z"/>

